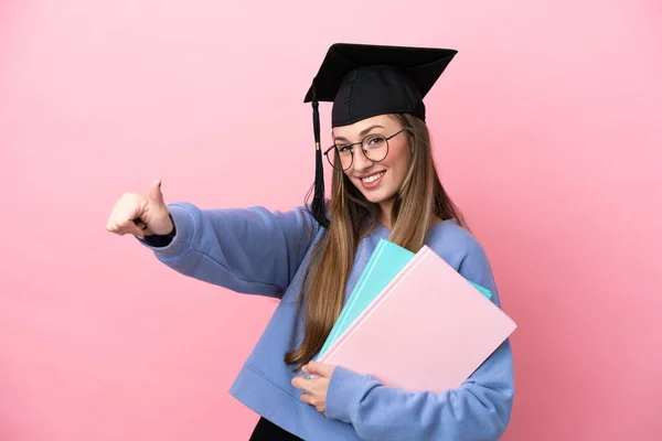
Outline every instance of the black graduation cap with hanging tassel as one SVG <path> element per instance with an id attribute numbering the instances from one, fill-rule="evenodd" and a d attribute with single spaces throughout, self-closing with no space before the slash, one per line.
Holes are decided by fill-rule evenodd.
<path id="1" fill-rule="evenodd" d="M 331 126 L 352 125 L 385 114 L 410 114 L 425 121 L 423 98 L 431 89 L 456 50 L 333 44 L 303 103 L 312 103 L 316 176 L 312 215 L 328 227 L 320 146 L 319 101 L 333 103 Z"/>

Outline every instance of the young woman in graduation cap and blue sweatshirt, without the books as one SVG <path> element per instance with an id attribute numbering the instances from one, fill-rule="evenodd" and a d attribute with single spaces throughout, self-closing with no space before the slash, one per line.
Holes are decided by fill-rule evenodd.
<path id="1" fill-rule="evenodd" d="M 401 390 L 311 361 L 381 238 L 414 252 L 429 246 L 500 306 L 485 254 L 439 181 L 425 122 L 423 97 L 455 54 L 331 46 L 306 98 L 317 141 L 311 206 L 167 205 L 160 181 L 146 196 L 116 203 L 107 228 L 134 234 L 170 268 L 280 299 L 231 388 L 261 416 L 252 440 L 494 440 L 505 430 L 514 395 L 508 340 L 465 384 L 444 391 Z M 319 146 L 318 100 L 333 101 L 328 149 Z M 334 169 L 330 201 L 322 157 Z"/>

